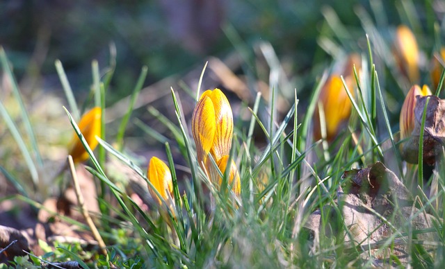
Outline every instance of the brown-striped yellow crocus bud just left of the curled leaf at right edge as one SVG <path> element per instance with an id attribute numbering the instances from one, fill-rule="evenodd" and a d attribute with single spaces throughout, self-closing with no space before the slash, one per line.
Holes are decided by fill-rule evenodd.
<path id="1" fill-rule="evenodd" d="M 418 95 L 431 95 L 430 88 L 423 85 L 421 89 L 419 85 L 414 85 L 406 95 L 400 116 L 401 140 L 410 137 L 412 130 L 414 130 L 414 107 L 416 107 L 416 96 Z"/>

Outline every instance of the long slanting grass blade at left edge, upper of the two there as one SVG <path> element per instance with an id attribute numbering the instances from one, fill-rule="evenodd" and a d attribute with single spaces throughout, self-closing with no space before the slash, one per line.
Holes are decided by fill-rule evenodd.
<path id="1" fill-rule="evenodd" d="M 40 155 L 33 126 L 31 125 L 31 121 L 29 120 L 29 115 L 23 103 L 23 99 L 19 91 L 19 86 L 17 85 L 17 81 L 14 78 L 13 71 L 10 69 L 10 66 L 8 64 L 8 58 L 6 57 L 6 53 L 2 46 L 0 46 L 0 60 L 1 60 L 1 65 L 3 67 L 3 71 L 6 73 L 6 76 L 10 78 L 10 82 L 13 86 L 13 96 L 19 103 L 20 112 L 22 114 L 22 120 L 25 126 L 25 130 L 28 133 L 29 140 L 31 141 L 31 147 L 33 148 L 35 159 L 37 160 L 38 166 L 42 167 L 43 166 L 42 156 Z"/>

